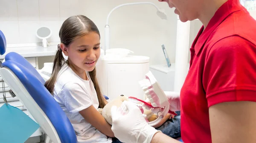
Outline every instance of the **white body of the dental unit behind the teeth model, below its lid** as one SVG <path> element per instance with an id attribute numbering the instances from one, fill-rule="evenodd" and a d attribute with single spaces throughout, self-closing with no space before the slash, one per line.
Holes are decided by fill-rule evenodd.
<path id="1" fill-rule="evenodd" d="M 145 79 L 149 71 L 149 63 L 108 64 L 108 97 L 120 95 L 144 99 L 144 91 L 139 81 Z"/>

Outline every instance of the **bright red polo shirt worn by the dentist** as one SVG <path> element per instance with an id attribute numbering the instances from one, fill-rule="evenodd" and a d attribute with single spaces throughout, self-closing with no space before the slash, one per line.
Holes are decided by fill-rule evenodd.
<path id="1" fill-rule="evenodd" d="M 180 93 L 184 143 L 211 143 L 209 107 L 256 101 L 256 20 L 228 0 L 199 31 Z"/>

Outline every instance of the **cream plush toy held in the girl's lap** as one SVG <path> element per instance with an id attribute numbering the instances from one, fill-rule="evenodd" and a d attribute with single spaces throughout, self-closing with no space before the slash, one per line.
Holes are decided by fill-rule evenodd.
<path id="1" fill-rule="evenodd" d="M 99 108 L 98 111 L 102 114 L 102 116 L 105 118 L 105 120 L 112 125 L 112 118 L 111 118 L 111 107 L 116 106 L 120 107 L 123 101 L 128 101 L 128 97 L 124 95 L 120 95 L 119 97 L 111 100 L 103 109 Z M 154 121 L 157 119 L 157 114 L 154 114 L 151 112 L 151 110 L 147 110 L 143 107 L 143 114 L 146 115 L 146 118 L 148 121 Z"/>

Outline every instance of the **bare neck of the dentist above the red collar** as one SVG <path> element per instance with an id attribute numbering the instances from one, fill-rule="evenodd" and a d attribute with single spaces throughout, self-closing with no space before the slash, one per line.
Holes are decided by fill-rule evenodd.
<path id="1" fill-rule="evenodd" d="M 202 0 L 203 5 L 198 19 L 203 23 L 204 29 L 207 27 L 218 8 L 225 2 L 227 2 L 227 0 Z"/>

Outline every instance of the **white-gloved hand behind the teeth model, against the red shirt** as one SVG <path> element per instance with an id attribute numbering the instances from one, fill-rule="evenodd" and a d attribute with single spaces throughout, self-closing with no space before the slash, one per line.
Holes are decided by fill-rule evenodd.
<path id="1" fill-rule="evenodd" d="M 164 92 L 169 99 L 170 102 L 170 110 L 171 111 L 180 111 L 180 93 L 165 91 Z"/>

